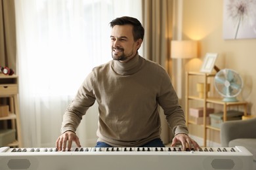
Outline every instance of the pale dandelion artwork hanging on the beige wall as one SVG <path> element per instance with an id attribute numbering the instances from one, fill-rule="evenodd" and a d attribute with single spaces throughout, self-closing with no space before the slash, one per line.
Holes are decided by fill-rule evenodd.
<path id="1" fill-rule="evenodd" d="M 223 37 L 256 38 L 256 0 L 224 0 Z"/>

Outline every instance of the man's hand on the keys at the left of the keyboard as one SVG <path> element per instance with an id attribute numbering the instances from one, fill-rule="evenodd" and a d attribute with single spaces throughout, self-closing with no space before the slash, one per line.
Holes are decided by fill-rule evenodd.
<path id="1" fill-rule="evenodd" d="M 58 137 L 56 141 L 56 148 L 58 149 L 58 151 L 65 151 L 68 143 L 67 148 L 68 150 L 70 150 L 73 141 L 75 141 L 77 147 L 81 147 L 79 138 L 77 137 L 77 135 L 75 135 L 74 131 L 65 131 L 64 133 L 62 133 L 62 135 Z"/>

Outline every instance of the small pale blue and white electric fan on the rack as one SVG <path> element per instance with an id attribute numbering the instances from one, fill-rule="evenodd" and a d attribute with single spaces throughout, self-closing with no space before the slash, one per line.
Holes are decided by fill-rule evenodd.
<path id="1" fill-rule="evenodd" d="M 236 96 L 242 91 L 242 87 L 241 76 L 232 69 L 221 69 L 215 75 L 215 88 L 224 97 L 223 101 L 238 101 Z"/>

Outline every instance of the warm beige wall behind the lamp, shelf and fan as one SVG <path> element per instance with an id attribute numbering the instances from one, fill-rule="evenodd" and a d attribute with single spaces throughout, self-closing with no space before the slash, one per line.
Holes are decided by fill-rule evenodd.
<path id="1" fill-rule="evenodd" d="M 187 61 L 186 71 L 199 71 L 205 54 L 217 52 L 216 65 L 220 69 L 234 69 L 244 79 L 238 98 L 249 103 L 249 114 L 256 115 L 256 39 L 223 39 L 223 3 L 223 0 L 183 0 L 182 39 L 199 41 L 198 58 Z M 190 133 L 202 137 L 198 131 L 202 128 L 190 127 Z M 212 140 L 219 142 L 214 135 Z"/>

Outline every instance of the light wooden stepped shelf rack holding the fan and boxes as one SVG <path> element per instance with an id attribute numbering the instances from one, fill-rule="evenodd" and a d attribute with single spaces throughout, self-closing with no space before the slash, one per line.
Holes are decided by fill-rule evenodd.
<path id="1" fill-rule="evenodd" d="M 192 87 L 192 78 L 196 78 L 196 76 L 200 76 L 203 83 L 203 96 L 199 97 L 198 95 L 192 95 L 190 92 L 190 88 Z M 247 103 L 245 101 L 237 101 L 237 102 L 224 102 L 222 98 L 217 97 L 209 97 L 207 92 L 207 84 L 209 84 L 209 79 L 214 78 L 214 73 L 198 73 L 198 72 L 187 72 L 186 73 L 186 103 L 185 103 L 185 116 L 186 116 L 186 126 L 188 124 L 196 124 L 189 119 L 189 108 L 190 101 L 201 102 L 203 106 L 203 124 L 199 125 L 203 128 L 203 146 L 207 145 L 207 129 L 213 129 L 216 131 L 220 131 L 219 128 L 207 125 L 207 116 L 206 116 L 206 108 L 209 103 L 218 104 L 223 106 L 223 121 L 225 122 L 227 119 L 227 110 L 232 106 L 241 106 L 244 109 L 244 116 L 247 115 Z M 213 86 L 213 84 L 211 84 Z"/>

